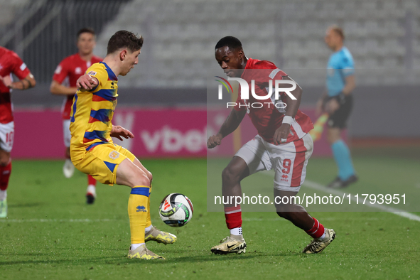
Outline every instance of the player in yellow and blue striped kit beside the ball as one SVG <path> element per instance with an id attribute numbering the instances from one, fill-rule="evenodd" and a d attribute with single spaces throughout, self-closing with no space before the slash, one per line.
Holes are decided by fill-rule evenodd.
<path id="1" fill-rule="evenodd" d="M 151 225 L 151 173 L 128 150 L 112 142 L 134 135 L 122 126 L 112 125 L 117 105 L 118 76 L 125 76 L 139 63 L 143 38 L 129 31 L 118 31 L 108 42 L 107 56 L 95 63 L 77 80 L 77 93 L 70 113 L 70 156 L 83 173 L 105 184 L 127 185 L 131 231 L 130 259 L 164 259 L 149 251 L 145 242 L 176 242 L 176 236 Z"/>

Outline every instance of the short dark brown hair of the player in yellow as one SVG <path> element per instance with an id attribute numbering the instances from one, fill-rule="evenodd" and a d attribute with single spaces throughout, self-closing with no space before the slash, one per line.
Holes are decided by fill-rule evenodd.
<path id="1" fill-rule="evenodd" d="M 108 41 L 107 55 L 114 53 L 120 48 L 128 48 L 131 52 L 140 50 L 143 47 L 143 37 L 121 30 L 114 33 Z"/>

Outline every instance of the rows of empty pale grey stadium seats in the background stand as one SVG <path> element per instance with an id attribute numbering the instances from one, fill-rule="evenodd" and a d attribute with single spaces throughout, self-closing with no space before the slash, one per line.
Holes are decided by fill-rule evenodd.
<path id="1" fill-rule="evenodd" d="M 114 19 L 112 28 L 104 28 L 97 49 L 103 49 L 100 45 L 115 30 L 136 28 L 144 34 L 146 44 L 149 40 L 153 43 L 147 53 L 151 55 L 149 63 L 155 65 L 151 68 L 152 76 L 165 77 L 168 85 L 183 81 L 195 86 L 201 82 L 204 86 L 205 78 L 200 78 L 200 71 L 194 69 L 215 65 L 213 48 L 222 36 L 237 36 L 252 58 L 281 61 L 282 67 L 287 68 L 325 68 L 330 54 L 323 42 L 325 28 L 339 23 L 345 30 L 345 45 L 355 58 L 356 68 L 392 67 L 397 72 L 395 75 L 403 77 L 404 20 L 410 11 L 414 17 L 413 65 L 419 68 L 420 42 L 416 36 L 420 36 L 420 4 L 417 1 L 302 0 L 281 1 L 281 9 L 279 6 L 276 0 L 258 4 L 252 0 L 156 0 L 153 3 L 134 0 L 124 7 L 126 14 L 120 13 Z M 153 18 L 150 14 L 154 14 Z M 229 24 L 226 18 L 231 19 Z M 190 61 L 192 57 L 198 61 Z M 185 73 L 194 82 L 185 81 L 182 76 Z M 129 82 L 147 84 L 149 76 L 141 75 Z M 362 80 L 371 83 L 377 79 Z"/>

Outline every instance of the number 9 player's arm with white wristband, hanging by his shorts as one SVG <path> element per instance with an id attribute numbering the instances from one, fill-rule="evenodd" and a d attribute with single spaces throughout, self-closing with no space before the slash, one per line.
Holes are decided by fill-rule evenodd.
<path id="1" fill-rule="evenodd" d="M 289 76 L 283 77 L 284 80 L 292 80 Z M 296 82 L 296 89 L 291 91 L 291 94 L 296 97 L 296 100 L 291 99 L 289 95 L 286 95 L 286 114 L 284 114 L 283 123 L 274 132 L 274 144 L 278 145 L 287 141 L 287 137 L 290 134 L 290 123 L 291 119 L 294 119 L 298 112 L 299 105 L 301 104 L 302 88 Z"/>

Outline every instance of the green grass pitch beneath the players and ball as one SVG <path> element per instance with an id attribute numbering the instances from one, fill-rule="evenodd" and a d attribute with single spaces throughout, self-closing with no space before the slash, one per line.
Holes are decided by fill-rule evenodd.
<path id="1" fill-rule="evenodd" d="M 420 183 L 416 158 L 362 153 L 354 161 L 361 178 L 355 192 L 366 184 Z M 228 231 L 221 212 L 207 212 L 207 161 L 142 162 L 154 174 L 152 222 L 178 236 L 173 245 L 147 244 L 166 261 L 126 259 L 129 188 L 98 184 L 97 201 L 86 205 L 84 174 L 64 178 L 62 161 L 14 161 L 9 218 L 0 220 L 0 279 L 420 279 L 420 222 L 388 212 L 312 213 L 337 237 L 308 256 L 300 251 L 311 238 L 290 222 L 274 212 L 245 212 L 247 253 L 213 255 L 210 247 Z M 383 176 L 372 175 L 370 166 Z M 402 176 L 387 176 L 392 172 Z M 334 176 L 332 159 L 311 158 L 308 180 L 325 184 Z M 266 188 L 271 192 L 271 184 Z M 168 227 L 158 217 L 158 204 L 171 192 L 193 202 L 185 227 Z"/>

